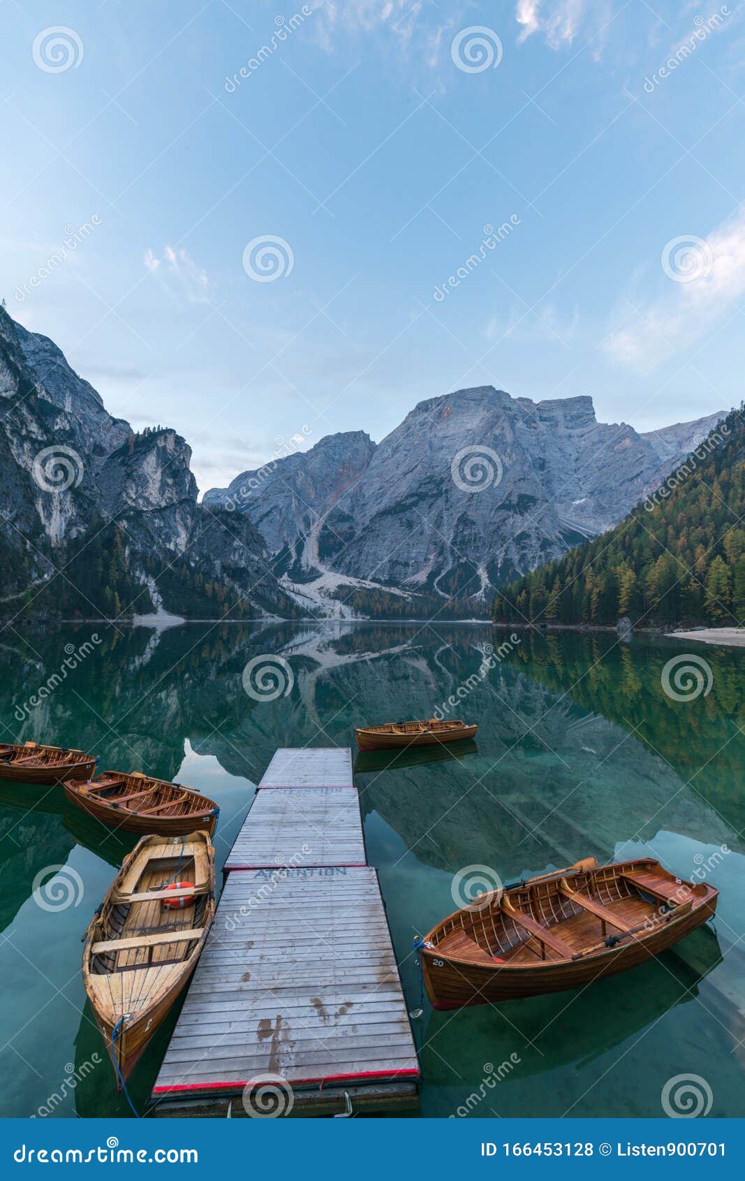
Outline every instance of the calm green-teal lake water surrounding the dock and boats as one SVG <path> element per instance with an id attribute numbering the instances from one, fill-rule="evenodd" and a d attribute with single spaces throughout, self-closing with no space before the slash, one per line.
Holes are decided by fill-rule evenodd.
<path id="1" fill-rule="evenodd" d="M 512 634 L 470 624 L 6 629 L 2 740 L 83 748 L 102 769 L 207 794 L 221 808 L 222 864 L 277 746 L 348 746 L 355 725 L 430 717 L 459 697 L 447 716 L 478 723 L 473 746 L 357 766 L 407 1006 L 423 1009 L 421 1113 L 659 1116 L 666 1083 L 695 1075 L 712 1116 L 741 1116 L 745 653 L 695 646 L 699 679 L 684 684 L 669 661 L 691 645 Z M 242 677 L 267 653 L 292 680 L 272 700 L 249 696 Z M 2 782 L 0 834 L 0 1114 L 126 1116 L 85 1001 L 80 939 L 135 842 L 66 804 L 61 788 Z M 498 1010 L 420 1005 L 412 939 L 455 909 L 453 875 L 482 867 L 510 882 L 590 855 L 705 875 L 721 892 L 715 931 L 586 990 Z M 132 1077 L 139 1111 L 175 1016 Z"/>

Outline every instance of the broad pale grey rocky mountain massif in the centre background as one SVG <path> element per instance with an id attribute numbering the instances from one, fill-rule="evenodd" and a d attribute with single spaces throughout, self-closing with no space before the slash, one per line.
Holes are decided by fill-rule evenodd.
<path id="1" fill-rule="evenodd" d="M 420 402 L 377 446 L 361 431 L 333 435 L 204 503 L 248 516 L 286 585 L 309 595 L 355 587 L 364 602 L 360 588 L 383 585 L 478 609 L 612 528 L 721 417 L 640 435 L 599 423 L 589 397 L 459 390 Z"/>

